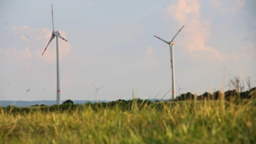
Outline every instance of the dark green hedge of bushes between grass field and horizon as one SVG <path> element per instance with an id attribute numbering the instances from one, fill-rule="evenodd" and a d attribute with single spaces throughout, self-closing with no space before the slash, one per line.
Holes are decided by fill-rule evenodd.
<path id="1" fill-rule="evenodd" d="M 221 97 L 225 100 L 236 100 L 237 102 L 241 99 L 252 99 L 253 95 L 255 95 L 256 88 L 251 88 L 250 91 L 237 93 L 236 90 L 229 90 L 225 93 L 221 93 L 220 91 L 214 92 L 214 93 L 208 93 L 205 92 L 202 95 L 195 96 L 192 93 L 183 93 L 180 95 L 180 97 L 177 97 L 174 101 L 183 101 L 183 100 L 218 100 Z M 254 96 L 255 97 L 255 96 Z M 161 104 L 157 104 L 161 103 Z M 6 108 L 3 108 L 3 111 L 6 111 L 8 113 L 13 113 L 17 115 L 18 113 L 24 114 L 24 113 L 33 113 L 35 111 L 40 110 L 42 113 L 48 113 L 48 112 L 60 112 L 63 113 L 65 111 L 72 112 L 76 109 L 83 110 L 83 109 L 92 109 L 93 111 L 99 111 L 100 109 L 115 109 L 118 108 L 121 111 L 132 111 L 135 109 L 144 109 L 144 108 L 152 108 L 158 110 L 163 110 L 162 104 L 167 104 L 168 102 L 151 102 L 150 100 L 142 100 L 142 99 L 132 99 L 132 100 L 116 100 L 111 102 L 99 102 L 99 103 L 92 103 L 87 102 L 86 104 L 73 104 L 72 100 L 66 100 L 61 105 L 53 105 L 53 106 L 45 106 L 44 104 L 41 104 L 40 106 L 38 104 L 35 104 L 34 106 L 31 106 L 31 108 L 17 108 L 15 106 L 7 106 Z M 1 113 L 1 112 L 0 112 Z"/>

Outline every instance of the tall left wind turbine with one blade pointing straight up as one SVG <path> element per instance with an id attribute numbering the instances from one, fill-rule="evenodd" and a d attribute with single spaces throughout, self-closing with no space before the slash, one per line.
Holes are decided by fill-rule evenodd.
<path id="1" fill-rule="evenodd" d="M 57 104 L 61 104 L 61 99 L 60 99 L 60 69 L 59 69 L 59 42 L 58 42 L 58 37 L 61 38 L 62 40 L 65 40 L 65 38 L 60 36 L 59 31 L 54 31 L 54 24 L 53 24 L 53 13 L 52 13 L 52 36 L 51 39 L 49 40 L 49 43 L 46 45 L 45 50 L 47 49 L 48 45 L 51 43 L 51 41 L 55 38 L 56 36 L 56 56 L 57 56 Z M 67 40 L 65 40 L 68 42 Z M 43 54 L 44 54 L 43 52 Z M 43 56 L 42 54 L 42 56 Z"/>

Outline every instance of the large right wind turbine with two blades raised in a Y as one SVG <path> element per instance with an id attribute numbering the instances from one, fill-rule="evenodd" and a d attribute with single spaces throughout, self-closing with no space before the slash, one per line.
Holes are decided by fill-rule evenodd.
<path id="1" fill-rule="evenodd" d="M 183 28 L 184 26 L 182 26 Z M 181 28 L 181 29 L 182 29 Z M 178 33 L 181 31 L 181 29 L 178 31 Z M 170 45 L 170 57 L 171 57 L 171 68 L 172 68 L 172 99 L 176 98 L 176 93 L 175 93 L 175 74 L 174 74 L 174 54 L 173 54 L 173 45 L 174 45 L 174 38 L 178 35 L 178 33 L 172 38 L 172 40 L 170 42 L 167 42 L 166 40 L 163 40 L 162 38 L 159 38 L 157 36 L 155 36 L 156 38 L 158 38 L 159 40 L 162 40 L 163 42 L 165 42 L 166 44 Z"/>

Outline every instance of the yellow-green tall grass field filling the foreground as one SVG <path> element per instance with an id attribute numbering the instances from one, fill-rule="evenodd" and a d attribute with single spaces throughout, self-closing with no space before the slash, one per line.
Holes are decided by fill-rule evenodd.
<path id="1" fill-rule="evenodd" d="M 255 104 L 191 100 L 15 115 L 2 109 L 0 143 L 256 143 Z"/>

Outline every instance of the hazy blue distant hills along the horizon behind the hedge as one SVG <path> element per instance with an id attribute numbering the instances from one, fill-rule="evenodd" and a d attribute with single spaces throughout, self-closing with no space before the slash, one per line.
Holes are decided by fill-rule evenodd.
<path id="1" fill-rule="evenodd" d="M 170 99 L 150 99 L 150 101 L 164 101 L 164 100 L 170 100 Z M 74 104 L 85 104 L 86 102 L 96 102 L 96 100 L 72 100 Z M 65 100 L 61 100 L 61 103 L 65 102 Z M 109 102 L 108 100 L 99 100 L 99 102 Z M 15 105 L 16 107 L 29 107 L 33 106 L 35 104 L 45 104 L 47 106 L 52 106 L 56 104 L 56 100 L 35 100 L 35 101 L 23 101 L 23 100 L 1 100 L 0 106 L 6 107 L 8 105 L 12 106 Z"/>

